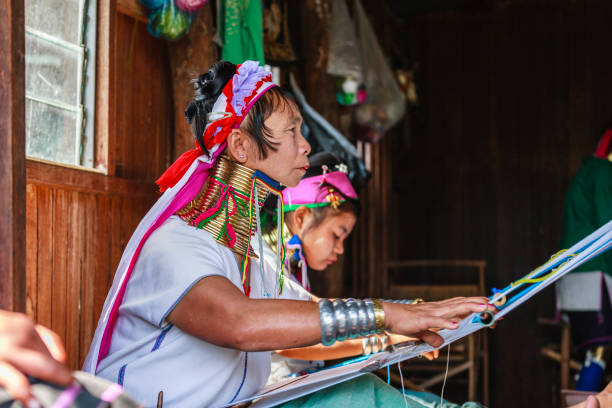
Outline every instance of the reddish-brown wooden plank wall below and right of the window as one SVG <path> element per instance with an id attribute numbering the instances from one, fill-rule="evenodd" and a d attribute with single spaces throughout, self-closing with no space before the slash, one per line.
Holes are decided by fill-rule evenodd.
<path id="1" fill-rule="evenodd" d="M 27 163 L 27 312 L 62 337 L 72 368 L 83 363 L 123 249 L 172 154 L 166 44 L 142 22 L 115 17 L 116 177 Z"/>

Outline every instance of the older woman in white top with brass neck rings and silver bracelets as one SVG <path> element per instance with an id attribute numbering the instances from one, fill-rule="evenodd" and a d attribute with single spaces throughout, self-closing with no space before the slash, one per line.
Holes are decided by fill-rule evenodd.
<path id="1" fill-rule="evenodd" d="M 123 384 L 146 406 L 223 406 L 253 395 L 269 350 L 332 344 L 388 329 L 437 346 L 432 327 L 491 308 L 485 298 L 401 305 L 377 299 L 282 299 L 251 247 L 259 207 L 295 186 L 310 146 L 301 115 L 257 62 L 219 62 L 186 110 L 197 148 L 158 180 L 164 195 L 123 254 L 85 370 Z M 358 322 L 348 326 L 348 308 Z M 357 324 L 358 323 L 358 324 Z M 363 381 L 363 380 L 361 380 Z"/>

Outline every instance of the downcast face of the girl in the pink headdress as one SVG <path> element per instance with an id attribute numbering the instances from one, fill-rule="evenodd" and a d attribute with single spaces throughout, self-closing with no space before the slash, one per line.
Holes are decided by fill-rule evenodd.
<path id="1" fill-rule="evenodd" d="M 308 228 L 309 220 L 305 220 L 306 228 L 303 228 L 303 232 L 298 233 L 298 236 L 302 241 L 302 250 L 308 266 L 322 271 L 336 262 L 338 255 L 344 253 L 344 240 L 353 231 L 356 222 L 357 217 L 349 211 L 331 212 L 319 225 L 312 228 Z"/>

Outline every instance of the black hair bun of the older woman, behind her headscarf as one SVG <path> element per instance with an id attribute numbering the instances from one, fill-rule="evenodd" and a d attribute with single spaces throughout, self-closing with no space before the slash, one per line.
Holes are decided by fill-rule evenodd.
<path id="1" fill-rule="evenodd" d="M 212 111 L 223 87 L 235 73 L 236 65 L 228 61 L 218 61 L 210 67 L 207 73 L 191 81 L 195 89 L 195 96 L 185 109 L 185 117 L 191 124 L 198 144 L 204 151 L 206 149 L 202 136 L 206 128 L 206 116 Z"/>

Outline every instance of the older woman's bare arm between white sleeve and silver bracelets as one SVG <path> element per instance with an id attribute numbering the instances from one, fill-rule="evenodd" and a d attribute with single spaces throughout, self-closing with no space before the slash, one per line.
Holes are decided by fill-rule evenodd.
<path id="1" fill-rule="evenodd" d="M 316 303 L 250 299 L 219 276 L 194 285 L 168 320 L 209 343 L 243 351 L 301 347 L 321 340 Z"/>

